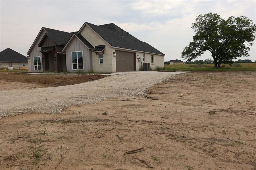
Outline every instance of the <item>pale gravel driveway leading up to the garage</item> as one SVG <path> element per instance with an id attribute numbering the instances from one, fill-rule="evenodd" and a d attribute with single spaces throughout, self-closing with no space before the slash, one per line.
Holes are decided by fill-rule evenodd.
<path id="1" fill-rule="evenodd" d="M 142 95 L 146 88 L 175 76 L 172 72 L 136 72 L 103 79 L 39 89 L 1 91 L 1 114 L 57 113 L 71 105 L 97 103 L 122 95 Z"/>

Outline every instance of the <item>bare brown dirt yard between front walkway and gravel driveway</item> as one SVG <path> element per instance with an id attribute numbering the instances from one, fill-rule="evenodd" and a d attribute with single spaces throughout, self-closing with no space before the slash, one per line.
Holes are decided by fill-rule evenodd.
<path id="1" fill-rule="evenodd" d="M 107 75 L 28 75 L 5 74 L 0 76 L 1 91 L 29 88 L 57 87 L 98 80 Z M 10 83 L 12 82 L 12 83 Z"/>

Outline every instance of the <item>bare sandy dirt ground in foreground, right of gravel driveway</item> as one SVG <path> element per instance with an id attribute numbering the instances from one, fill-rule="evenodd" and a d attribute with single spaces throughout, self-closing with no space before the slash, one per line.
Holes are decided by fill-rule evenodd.
<path id="1" fill-rule="evenodd" d="M 256 169 L 255 75 L 184 73 L 144 97 L 8 116 L 1 169 Z"/>

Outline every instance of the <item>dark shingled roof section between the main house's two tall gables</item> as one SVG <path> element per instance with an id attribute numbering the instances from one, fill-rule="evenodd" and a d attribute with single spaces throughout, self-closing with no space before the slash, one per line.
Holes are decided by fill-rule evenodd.
<path id="1" fill-rule="evenodd" d="M 45 28 L 43 27 L 43 29 L 45 29 L 45 31 L 47 31 L 46 35 L 55 43 L 58 45 L 66 45 L 66 43 L 68 42 L 68 40 L 70 39 L 70 37 L 77 32 L 72 32 L 72 33 L 68 33 L 68 32 L 64 32 L 64 31 L 59 31 L 56 29 L 50 29 L 50 28 Z"/>

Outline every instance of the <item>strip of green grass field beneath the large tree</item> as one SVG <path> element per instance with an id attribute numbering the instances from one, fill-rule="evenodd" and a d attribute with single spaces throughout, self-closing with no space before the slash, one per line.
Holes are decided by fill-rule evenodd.
<path id="1" fill-rule="evenodd" d="M 232 66 L 225 64 L 220 68 L 214 68 L 214 64 L 178 64 L 164 65 L 165 70 L 170 71 L 256 71 L 256 63 L 240 63 Z"/>

